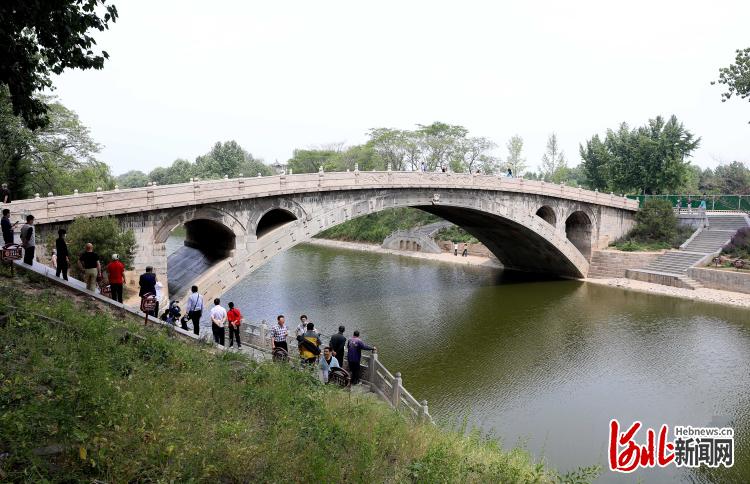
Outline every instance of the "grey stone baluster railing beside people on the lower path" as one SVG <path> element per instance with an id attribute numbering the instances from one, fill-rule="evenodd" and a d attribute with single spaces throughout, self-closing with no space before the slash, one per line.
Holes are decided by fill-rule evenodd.
<path id="1" fill-rule="evenodd" d="M 271 348 L 271 334 L 270 330 L 262 322 L 260 324 L 253 324 L 243 320 L 242 327 L 244 328 L 244 338 L 246 339 L 244 344 L 251 344 L 252 346 L 269 351 Z M 293 331 L 293 330 L 292 330 Z M 320 339 L 323 346 L 326 345 L 326 341 L 330 338 L 326 335 L 321 334 Z M 288 338 L 290 358 L 296 357 L 297 341 L 294 337 Z M 344 358 L 339 358 L 339 363 L 344 366 Z M 393 408 L 401 413 L 409 415 L 417 421 L 432 421 L 429 409 L 427 406 L 427 400 L 418 401 L 406 388 L 404 388 L 403 381 L 401 379 L 401 373 L 396 373 L 395 376 L 388 371 L 378 359 L 378 353 L 372 351 L 370 355 L 362 353 L 362 361 L 360 362 L 362 368 L 362 380 L 370 384 L 370 390 L 373 393 L 379 395 L 383 400 L 388 402 Z"/>

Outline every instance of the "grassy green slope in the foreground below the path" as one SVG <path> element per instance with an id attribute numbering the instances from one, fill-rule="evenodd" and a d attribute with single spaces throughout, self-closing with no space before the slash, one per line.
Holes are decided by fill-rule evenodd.
<path id="1" fill-rule="evenodd" d="M 9 314 L 0 323 L 0 481 L 558 479 L 521 450 L 411 425 L 369 396 L 171 339 L 33 279 L 0 276 L 0 315 Z M 120 343 L 116 328 L 145 340 Z M 33 452 L 53 444 L 63 451 Z"/>

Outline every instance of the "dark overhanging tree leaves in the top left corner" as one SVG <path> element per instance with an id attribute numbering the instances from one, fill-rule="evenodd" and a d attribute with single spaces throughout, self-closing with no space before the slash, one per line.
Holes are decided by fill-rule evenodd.
<path id="1" fill-rule="evenodd" d="M 35 94 L 52 87 L 51 74 L 67 68 L 101 69 L 109 58 L 106 51 L 93 51 L 96 41 L 88 34 L 92 29 L 103 31 L 116 21 L 116 7 L 105 3 L 0 2 L 0 84 L 9 89 L 13 113 L 30 129 L 48 122 L 47 99 Z"/>

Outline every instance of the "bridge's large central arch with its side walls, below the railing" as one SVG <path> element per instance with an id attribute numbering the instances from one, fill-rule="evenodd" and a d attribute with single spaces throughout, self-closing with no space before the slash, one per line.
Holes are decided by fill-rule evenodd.
<path id="1" fill-rule="evenodd" d="M 586 214 L 588 247 L 595 245 L 600 222 L 597 207 L 586 203 L 455 189 L 357 190 L 235 203 L 235 211 L 247 221 L 246 243 L 196 279 L 209 298 L 223 294 L 278 253 L 328 228 L 388 208 L 414 207 L 449 220 L 479 239 L 507 268 L 566 277 L 584 277 L 588 260 L 566 236 L 564 221 L 576 212 Z M 537 215 L 540 207 L 549 205 L 555 206 L 563 223 L 555 226 Z M 289 216 L 273 217 L 274 224 L 264 227 L 263 220 L 275 212 Z"/>

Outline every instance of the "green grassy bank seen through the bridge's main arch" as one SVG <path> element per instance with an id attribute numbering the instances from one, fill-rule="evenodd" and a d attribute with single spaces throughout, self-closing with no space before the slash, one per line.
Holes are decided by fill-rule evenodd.
<path id="1" fill-rule="evenodd" d="M 439 217 L 416 208 L 392 208 L 346 221 L 321 232 L 317 237 L 380 244 L 396 230 L 410 229 L 440 220 Z"/>

